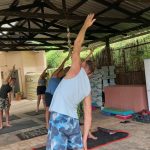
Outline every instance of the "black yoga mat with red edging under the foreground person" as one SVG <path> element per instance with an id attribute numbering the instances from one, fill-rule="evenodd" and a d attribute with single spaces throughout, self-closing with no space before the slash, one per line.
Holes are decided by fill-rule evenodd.
<path id="1" fill-rule="evenodd" d="M 110 144 L 112 142 L 123 140 L 127 138 L 129 134 L 124 131 L 110 130 L 98 127 L 97 130 L 93 132 L 93 135 L 96 136 L 98 139 L 97 140 L 88 139 L 87 141 L 88 150 L 92 150 L 93 148 L 98 148 Z M 42 146 L 38 148 L 33 148 L 32 150 L 45 150 L 45 149 L 46 147 Z"/>

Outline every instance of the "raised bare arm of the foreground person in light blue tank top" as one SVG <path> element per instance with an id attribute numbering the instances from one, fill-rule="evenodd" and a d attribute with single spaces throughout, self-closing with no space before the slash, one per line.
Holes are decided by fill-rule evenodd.
<path id="1" fill-rule="evenodd" d="M 72 53 L 72 64 L 71 64 L 71 69 L 70 69 L 70 75 L 76 75 L 80 71 L 81 67 L 81 59 L 80 59 L 80 52 L 81 52 L 81 47 L 84 41 L 85 33 L 86 30 L 94 23 L 94 14 L 89 14 L 80 29 L 76 40 L 74 41 L 74 46 L 73 46 L 73 53 Z M 68 73 L 69 74 L 69 73 Z M 71 75 L 72 74 L 72 75 Z"/>

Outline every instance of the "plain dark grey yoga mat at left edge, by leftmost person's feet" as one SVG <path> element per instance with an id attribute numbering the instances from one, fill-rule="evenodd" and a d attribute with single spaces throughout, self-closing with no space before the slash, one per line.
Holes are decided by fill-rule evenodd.
<path id="1" fill-rule="evenodd" d="M 35 127 L 38 125 L 40 125 L 40 124 L 38 124 L 32 120 L 20 121 L 18 123 L 13 123 L 11 127 L 4 127 L 3 129 L 1 129 L 0 135 L 5 134 L 5 133 L 18 131 L 18 130 L 22 130 L 22 129 L 26 129 L 26 128 Z"/>

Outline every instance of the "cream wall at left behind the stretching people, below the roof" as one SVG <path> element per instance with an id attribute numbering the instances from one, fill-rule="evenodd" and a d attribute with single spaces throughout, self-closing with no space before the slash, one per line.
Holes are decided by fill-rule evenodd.
<path id="1" fill-rule="evenodd" d="M 26 94 L 25 75 L 29 72 L 41 73 L 45 69 L 45 52 L 0 52 L 0 72 L 3 71 L 5 77 L 14 64 L 19 74 L 20 89 Z"/>

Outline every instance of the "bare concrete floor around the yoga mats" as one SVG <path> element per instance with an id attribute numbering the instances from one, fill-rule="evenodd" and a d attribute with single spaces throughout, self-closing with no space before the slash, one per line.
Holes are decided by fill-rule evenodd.
<path id="1" fill-rule="evenodd" d="M 21 119 L 13 120 L 11 122 L 12 125 L 19 121 L 33 120 L 39 123 L 39 126 L 33 127 L 33 129 L 44 127 L 44 123 L 36 117 L 31 117 L 24 114 L 25 112 L 35 110 L 35 107 L 36 101 L 13 101 L 11 106 L 11 114 L 15 114 Z M 40 108 L 42 108 L 42 104 Z M 41 114 L 38 117 L 42 116 L 44 117 L 44 114 Z M 93 111 L 93 130 L 97 127 L 104 127 L 109 129 L 124 130 L 130 133 L 128 138 L 100 147 L 97 150 L 150 150 L 150 124 L 138 123 L 132 120 L 130 120 L 130 123 L 121 124 L 120 121 L 122 120 L 114 117 L 103 116 L 100 114 L 99 110 Z M 23 129 L 21 132 L 28 130 L 31 130 L 31 128 Z M 20 133 L 20 131 L 0 134 L 0 150 L 32 150 L 33 147 L 44 145 L 46 143 L 46 135 L 20 141 L 20 139 L 16 136 L 17 133 Z"/>

